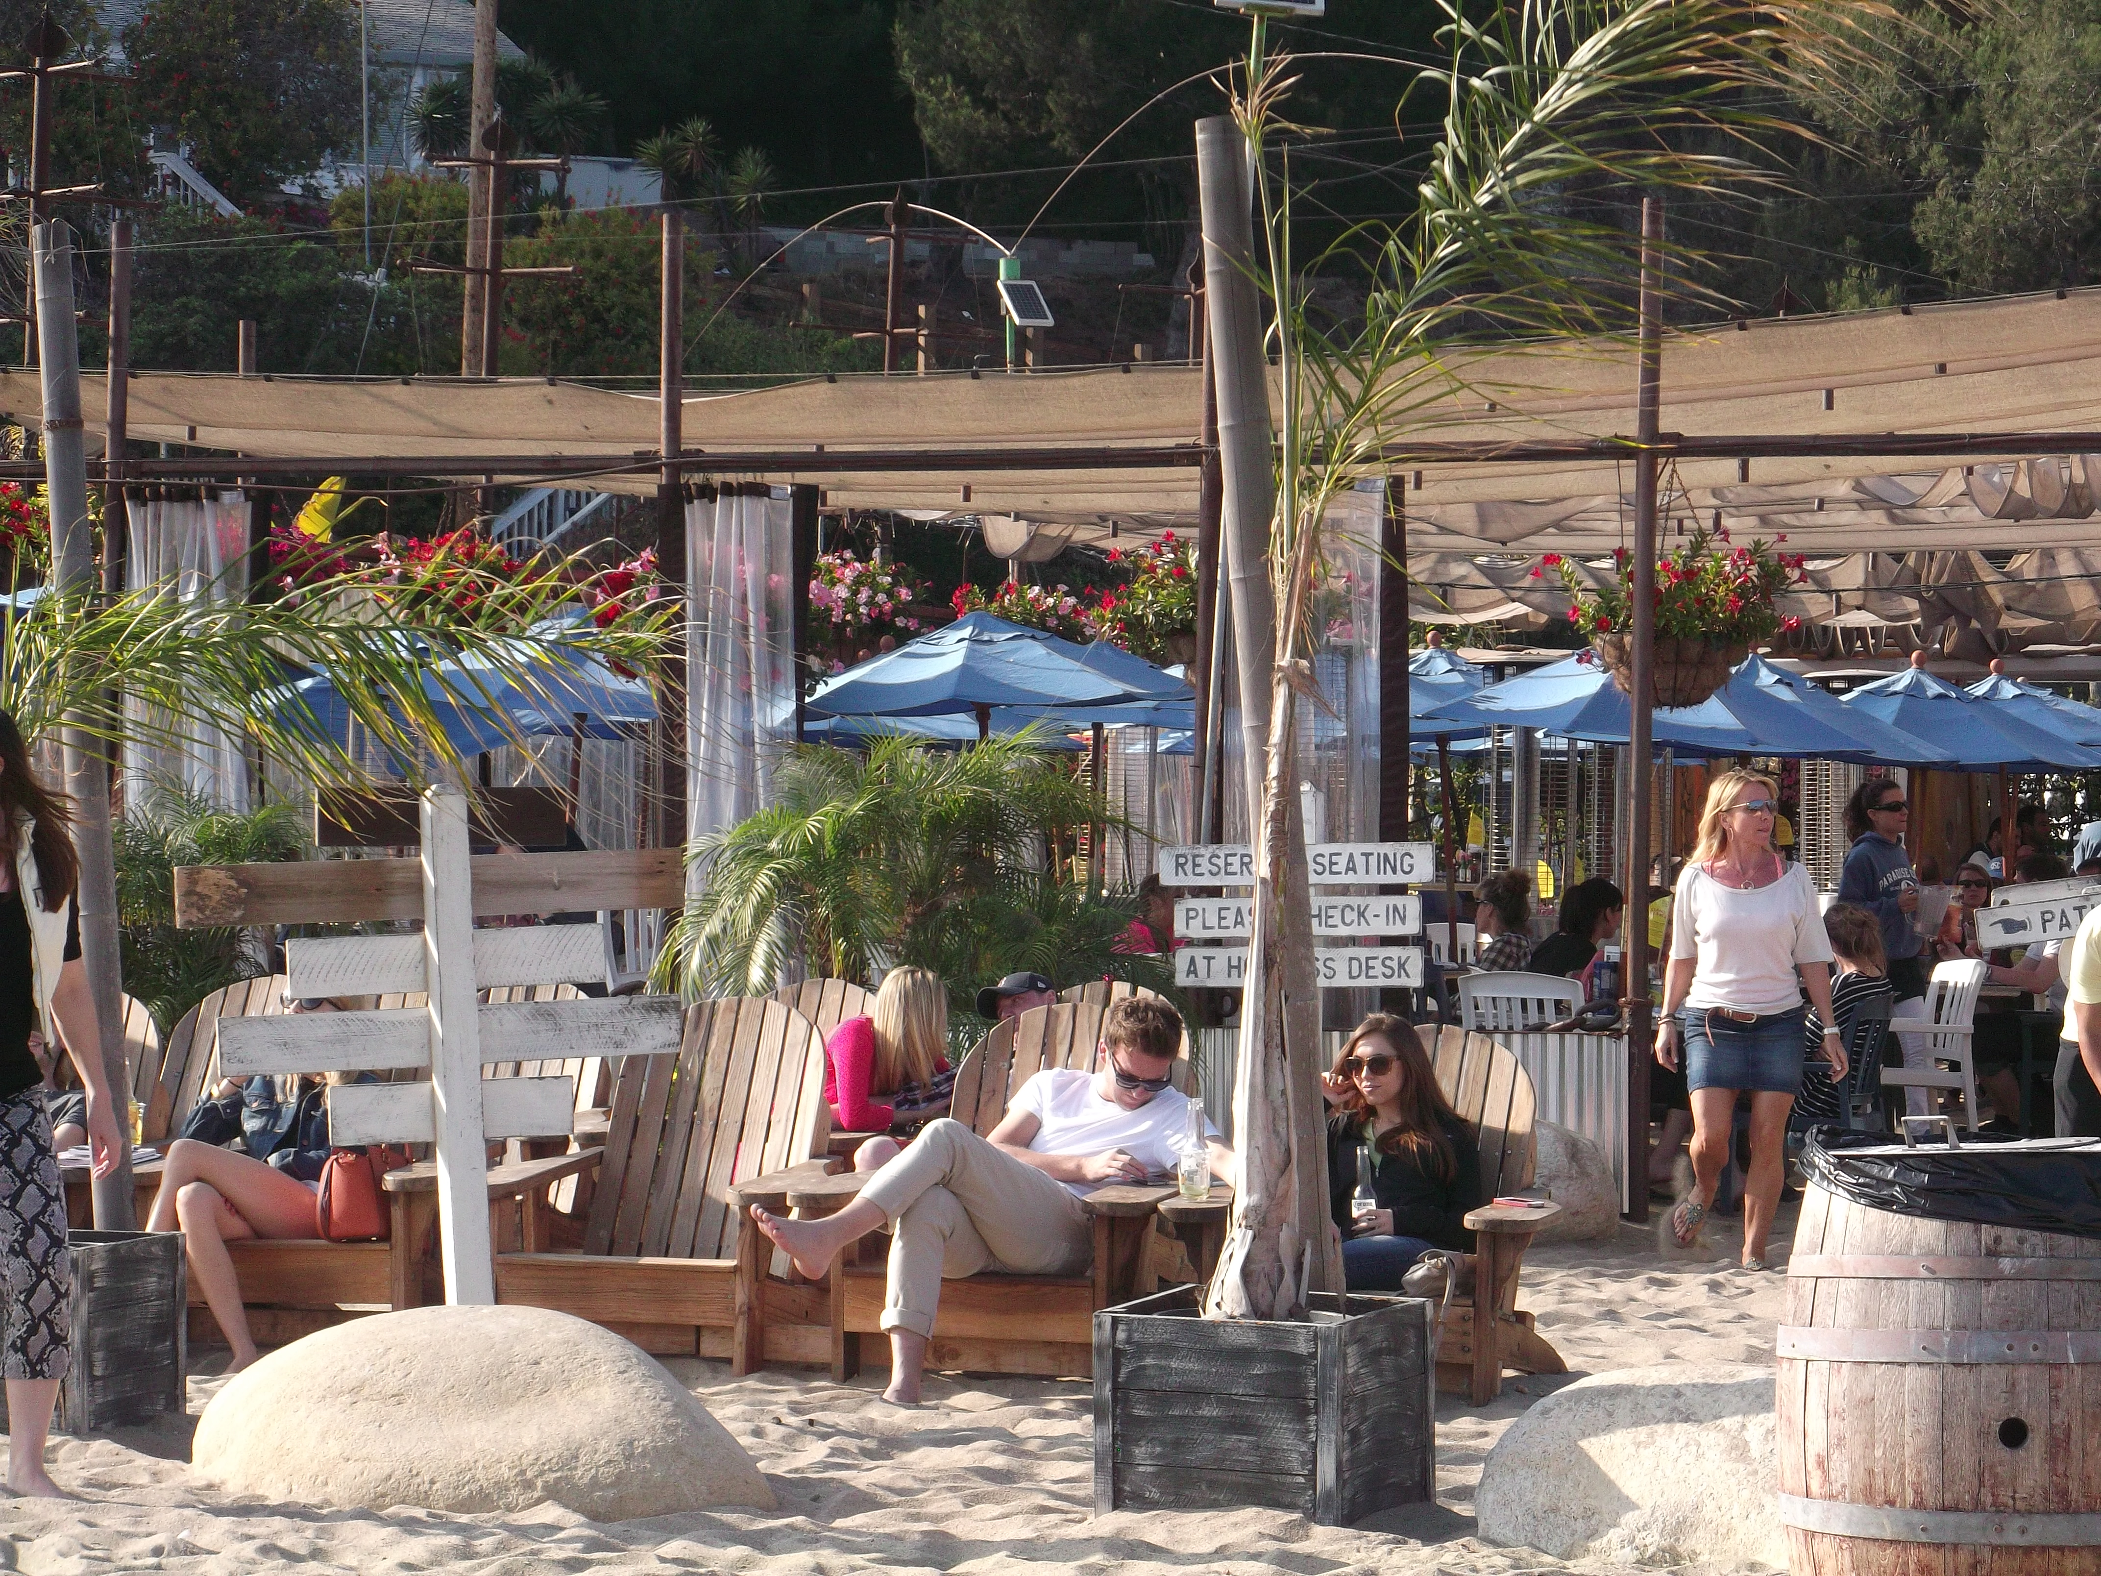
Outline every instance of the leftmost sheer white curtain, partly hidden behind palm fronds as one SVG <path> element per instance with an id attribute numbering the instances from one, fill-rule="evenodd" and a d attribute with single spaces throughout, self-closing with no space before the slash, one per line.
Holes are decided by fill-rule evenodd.
<path id="1" fill-rule="evenodd" d="M 130 546 L 124 557 L 126 590 L 160 590 L 185 601 L 231 601 L 242 595 L 242 555 L 248 551 L 248 498 L 221 492 L 204 498 L 132 498 Z M 227 565 L 235 574 L 227 576 Z M 124 742 L 124 796 L 158 786 L 204 794 L 219 809 L 248 809 L 248 761 L 242 740 L 195 719 L 149 719 L 126 698 L 124 714 L 149 723 L 162 738 Z M 137 733 L 137 729 L 130 729 Z"/>

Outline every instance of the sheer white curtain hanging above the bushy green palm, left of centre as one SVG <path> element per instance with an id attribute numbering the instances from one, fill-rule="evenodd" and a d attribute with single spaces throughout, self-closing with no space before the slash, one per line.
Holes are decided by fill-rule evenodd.
<path id="1" fill-rule="evenodd" d="M 706 836 L 767 801 L 794 738 L 788 490 L 725 485 L 685 506 L 687 826 Z"/>

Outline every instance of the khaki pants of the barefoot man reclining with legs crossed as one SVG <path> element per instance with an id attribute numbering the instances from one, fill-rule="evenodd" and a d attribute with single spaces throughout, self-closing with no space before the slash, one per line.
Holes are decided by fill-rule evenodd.
<path id="1" fill-rule="evenodd" d="M 1093 1223 L 1063 1183 L 948 1118 L 929 1122 L 861 1198 L 893 1231 L 885 1330 L 931 1336 L 943 1280 L 1082 1276 L 1095 1259 Z"/>

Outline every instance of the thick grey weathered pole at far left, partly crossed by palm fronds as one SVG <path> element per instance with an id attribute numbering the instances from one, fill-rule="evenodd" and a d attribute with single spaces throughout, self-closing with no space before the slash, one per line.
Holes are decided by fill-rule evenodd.
<path id="1" fill-rule="evenodd" d="M 61 595 L 92 595 L 95 527 L 88 523 L 88 450 L 80 420 L 80 332 L 74 322 L 74 233 L 63 223 L 29 231 L 38 275 L 36 311 L 44 368 L 44 481 L 50 494 L 53 567 Z M 80 851 L 80 954 L 95 996 L 99 1046 L 69 1046 L 76 1059 L 101 1053 L 111 1101 L 130 1099 L 124 1067 L 124 975 L 118 954 L 118 874 L 109 843 L 109 759 L 86 719 L 67 719 L 65 792 L 74 796 L 74 847 Z M 23 895 L 27 901 L 27 893 Z M 95 1227 L 130 1231 L 130 1112 L 116 1107 L 118 1168 L 97 1177 Z"/>

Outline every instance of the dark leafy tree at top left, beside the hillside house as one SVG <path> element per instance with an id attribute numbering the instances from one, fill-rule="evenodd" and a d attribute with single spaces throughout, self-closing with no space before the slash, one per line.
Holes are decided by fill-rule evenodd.
<path id="1" fill-rule="evenodd" d="M 124 29 L 124 57 L 139 116 L 170 126 L 237 204 L 357 145 L 351 0 L 153 0 Z"/>

